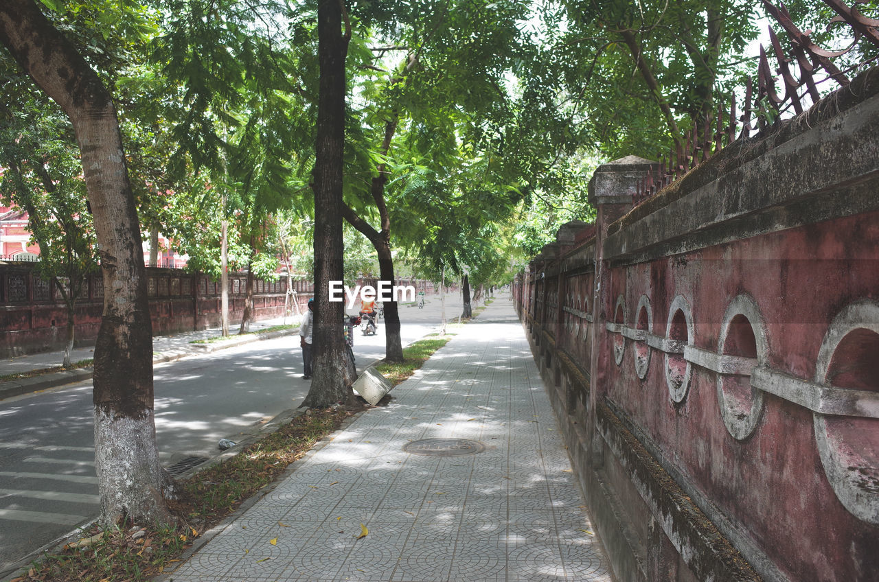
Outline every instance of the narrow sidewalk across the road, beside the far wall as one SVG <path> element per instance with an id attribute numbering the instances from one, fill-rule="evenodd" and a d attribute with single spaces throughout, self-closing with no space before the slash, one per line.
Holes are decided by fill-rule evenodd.
<path id="1" fill-rule="evenodd" d="M 251 322 L 250 331 L 265 330 L 274 325 L 281 325 L 284 323 L 284 317 L 275 317 L 273 319 Z M 286 323 L 298 325 L 299 317 L 288 316 Z M 240 326 L 237 324 L 229 325 L 229 336 L 235 336 L 238 333 L 239 327 Z M 296 330 L 286 330 L 274 331 L 272 333 L 251 334 L 214 344 L 193 344 L 192 342 L 197 339 L 214 338 L 219 336 L 220 328 L 211 328 L 202 331 L 186 331 L 172 336 L 158 336 L 153 338 L 153 363 L 158 364 L 171 360 L 179 360 L 188 355 L 209 353 L 217 349 L 241 346 L 242 344 L 250 343 L 251 341 L 277 338 L 281 335 L 289 335 L 297 332 L 298 331 Z M 77 362 L 79 360 L 91 359 L 93 356 L 94 346 L 79 347 L 70 353 L 70 361 Z M 63 359 L 63 352 L 43 352 L 0 360 L 0 375 L 24 374 L 25 372 L 31 372 L 33 370 L 61 366 Z M 86 367 L 37 375 L 32 378 L 3 381 L 0 382 L 0 400 L 11 396 L 18 396 L 19 394 L 35 392 L 37 390 L 55 388 L 72 382 L 82 382 L 84 380 L 89 380 L 91 374 L 92 368 Z"/>

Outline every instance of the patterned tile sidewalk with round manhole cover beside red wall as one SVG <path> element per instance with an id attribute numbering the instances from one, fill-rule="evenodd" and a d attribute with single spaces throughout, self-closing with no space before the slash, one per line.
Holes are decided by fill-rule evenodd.
<path id="1" fill-rule="evenodd" d="M 159 579 L 613 579 L 507 299 L 390 394 Z"/>

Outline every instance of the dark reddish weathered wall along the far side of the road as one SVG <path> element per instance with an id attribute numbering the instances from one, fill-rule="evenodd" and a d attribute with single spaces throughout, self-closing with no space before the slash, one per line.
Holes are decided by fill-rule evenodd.
<path id="1" fill-rule="evenodd" d="M 201 273 L 148 267 L 149 311 L 153 334 L 218 327 L 221 286 Z M 247 276 L 229 276 L 229 319 L 241 319 Z M 307 281 L 295 281 L 299 302 L 308 300 Z M 91 345 L 98 337 L 104 289 L 100 274 L 92 275 L 76 303 L 76 342 Z M 254 318 L 268 319 L 284 312 L 287 281 L 254 281 Z M 300 309 L 301 312 L 301 309 Z M 0 358 L 63 349 L 67 309 L 58 290 L 33 273 L 32 265 L 0 267 Z"/>

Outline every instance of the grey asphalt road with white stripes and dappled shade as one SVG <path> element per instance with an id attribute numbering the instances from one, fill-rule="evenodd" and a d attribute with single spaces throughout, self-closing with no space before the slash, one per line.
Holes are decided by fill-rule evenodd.
<path id="1" fill-rule="evenodd" d="M 447 316 L 460 299 L 447 297 Z M 451 318 L 451 317 L 450 317 Z M 402 307 L 403 344 L 435 331 L 439 297 L 425 309 Z M 376 336 L 354 331 L 359 368 L 384 354 L 383 323 Z M 154 370 L 156 441 L 165 466 L 219 452 L 282 411 L 301 404 L 299 337 L 265 340 Z M 0 402 L 0 578 L 35 549 L 84 525 L 98 513 L 91 382 Z"/>

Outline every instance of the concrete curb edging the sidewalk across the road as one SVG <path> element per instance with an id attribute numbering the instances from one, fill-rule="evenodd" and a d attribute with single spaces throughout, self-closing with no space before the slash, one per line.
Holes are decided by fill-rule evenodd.
<path id="1" fill-rule="evenodd" d="M 177 361 L 193 355 L 214 353 L 218 350 L 224 350 L 230 347 L 244 346 L 245 344 L 264 341 L 266 339 L 283 338 L 284 336 L 292 336 L 296 333 L 299 333 L 299 328 L 269 331 L 266 333 L 251 333 L 240 338 L 227 339 L 226 341 L 215 342 L 214 344 L 190 344 L 189 346 L 191 347 L 178 350 L 177 352 L 155 353 L 153 355 L 153 364 L 163 364 L 164 362 Z M 0 400 L 11 398 L 12 396 L 20 396 L 22 394 L 33 394 L 34 392 L 40 392 L 41 390 L 57 388 L 75 382 L 83 382 L 84 380 L 91 380 L 93 374 L 93 368 L 83 367 L 76 370 L 63 370 L 62 372 L 33 376 L 33 378 L 7 380 L 5 382 L 0 382 Z"/>

